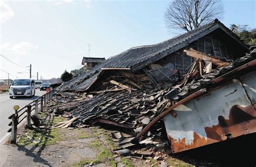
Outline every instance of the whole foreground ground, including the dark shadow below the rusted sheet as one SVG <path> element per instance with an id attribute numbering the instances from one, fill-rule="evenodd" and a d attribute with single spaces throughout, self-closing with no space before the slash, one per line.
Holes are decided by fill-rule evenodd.
<path id="1" fill-rule="evenodd" d="M 46 116 L 48 119 L 42 121 L 49 126 L 66 120 L 61 116 Z M 40 117 L 45 114 L 41 113 Z M 250 144 L 255 141 L 255 135 L 169 155 L 157 161 L 113 154 L 112 150 L 118 146 L 110 133 L 111 130 L 97 127 L 24 129 L 18 133 L 17 145 L 5 144 L 11 154 L 3 166 L 255 166 L 255 158 L 248 152 L 255 150 L 255 144 Z M 28 137 L 33 137 L 35 143 Z M 241 140 L 247 143 L 241 145 Z"/>

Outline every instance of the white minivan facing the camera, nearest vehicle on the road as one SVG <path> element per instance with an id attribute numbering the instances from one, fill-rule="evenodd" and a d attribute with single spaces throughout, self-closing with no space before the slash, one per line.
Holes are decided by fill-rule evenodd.
<path id="1" fill-rule="evenodd" d="M 36 88 L 35 88 L 35 80 L 32 79 L 15 79 L 11 83 L 11 87 L 9 89 L 10 98 L 14 98 L 16 96 L 35 96 Z"/>

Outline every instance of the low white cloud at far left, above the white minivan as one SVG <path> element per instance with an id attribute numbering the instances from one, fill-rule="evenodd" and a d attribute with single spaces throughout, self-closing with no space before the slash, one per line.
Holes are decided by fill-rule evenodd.
<path id="1" fill-rule="evenodd" d="M 27 41 L 21 42 L 18 44 L 10 44 L 10 43 L 3 43 L 1 45 L 1 52 L 3 53 L 14 53 L 18 55 L 23 55 L 32 51 L 37 50 L 36 45 L 33 45 Z"/>

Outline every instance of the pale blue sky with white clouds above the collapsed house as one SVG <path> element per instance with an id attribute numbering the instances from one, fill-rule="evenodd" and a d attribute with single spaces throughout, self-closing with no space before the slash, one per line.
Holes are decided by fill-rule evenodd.
<path id="1" fill-rule="evenodd" d="M 171 1 L 1 1 L 0 69 L 26 78 L 57 78 L 82 67 L 83 56 L 109 58 L 130 47 L 159 43 L 175 34 L 166 30 L 164 11 Z M 223 1 L 226 26 L 255 28 L 256 2 Z M 14 76 L 15 75 L 15 76 Z M 0 71 L 0 78 L 7 74 Z"/>

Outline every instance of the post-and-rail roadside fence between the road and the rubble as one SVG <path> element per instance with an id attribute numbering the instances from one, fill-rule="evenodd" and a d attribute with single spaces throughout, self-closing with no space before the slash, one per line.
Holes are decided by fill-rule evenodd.
<path id="1" fill-rule="evenodd" d="M 30 102 L 28 105 L 24 106 L 21 109 L 19 109 L 18 106 L 14 106 L 15 113 L 9 116 L 9 119 L 12 120 L 9 123 L 9 126 L 11 126 L 11 128 L 8 130 L 8 132 L 11 133 L 11 143 L 16 144 L 18 124 L 26 118 L 26 127 L 31 128 L 31 112 L 35 110 L 34 115 L 38 118 L 39 110 L 40 112 L 43 112 L 43 108 L 46 107 L 46 104 L 51 100 L 52 96 L 53 90 L 51 89 L 49 92 Z M 19 118 L 22 115 L 25 116 L 19 121 Z"/>

